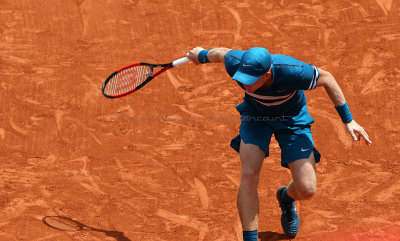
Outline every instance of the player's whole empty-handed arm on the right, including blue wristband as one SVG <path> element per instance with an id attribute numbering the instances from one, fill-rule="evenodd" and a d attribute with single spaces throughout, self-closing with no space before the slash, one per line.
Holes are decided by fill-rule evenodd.
<path id="1" fill-rule="evenodd" d="M 361 140 L 361 137 L 365 139 L 365 143 L 367 145 L 371 145 L 367 132 L 365 132 L 364 128 L 360 126 L 352 117 L 350 110 L 347 106 L 346 99 L 344 98 L 343 92 L 340 89 L 338 83 L 331 73 L 328 71 L 322 70 L 318 68 L 320 76 L 318 79 L 317 87 L 323 86 L 331 99 L 332 103 L 335 105 L 336 110 L 338 111 L 342 121 L 346 125 L 347 131 L 353 137 L 353 139 Z M 358 134 L 358 138 L 356 136 Z"/>

